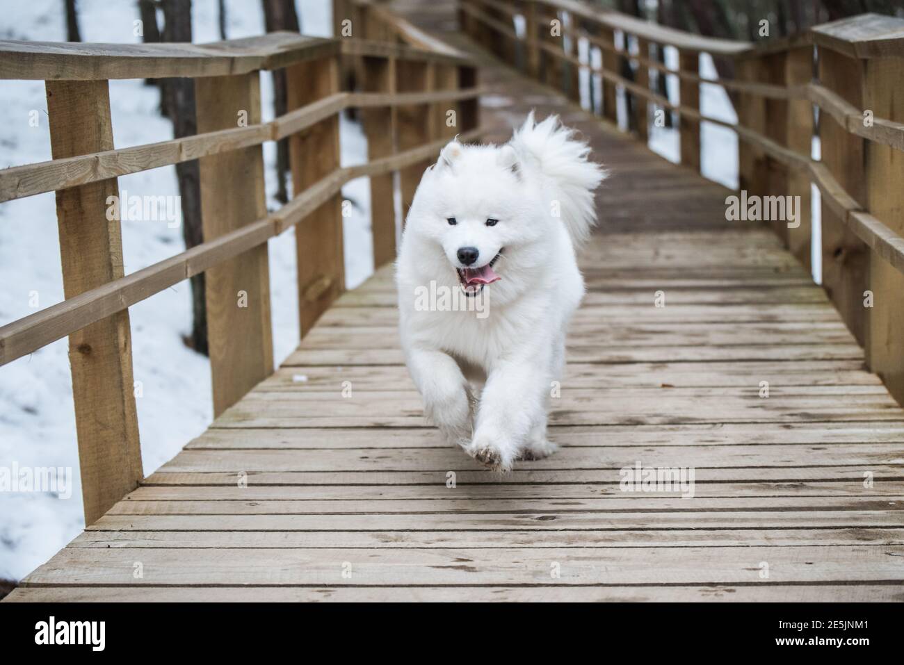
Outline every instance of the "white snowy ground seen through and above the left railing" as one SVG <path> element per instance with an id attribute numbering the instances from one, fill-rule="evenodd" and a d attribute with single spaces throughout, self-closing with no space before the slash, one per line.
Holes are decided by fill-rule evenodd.
<path id="1" fill-rule="evenodd" d="M 297 2 L 304 33 L 332 33 L 330 0 Z M 227 0 L 227 34 L 233 38 L 264 32 L 259 2 Z M 85 42 L 140 42 L 133 33 L 137 3 L 80 0 Z M 0 39 L 65 40 L 60 0 L 7 3 Z M 219 40 L 217 0 L 193 1 L 195 42 Z M 272 80 L 261 75 L 264 120 L 273 117 Z M 42 81 L 0 81 L 0 168 L 51 158 Z M 110 81 L 110 106 L 118 147 L 173 137 L 159 114 L 159 93 L 141 80 Z M 38 112 L 38 126 L 29 114 Z M 361 127 L 341 120 L 342 162 L 366 158 Z M 268 208 L 275 210 L 276 145 L 264 145 Z M 174 167 L 119 178 L 120 192 L 177 195 Z M 352 213 L 344 219 L 345 270 L 349 287 L 372 273 L 370 197 L 366 179 L 348 183 L 344 198 Z M 182 230 L 165 221 L 123 221 L 126 273 L 184 250 Z M 277 363 L 298 339 L 295 238 L 287 231 L 269 241 L 274 355 Z M 60 249 L 53 194 L 0 204 L 0 324 L 22 318 L 63 299 Z M 184 346 L 191 327 L 189 283 L 181 282 L 129 309 L 136 381 L 138 426 L 145 473 L 171 459 L 212 420 L 210 365 Z M 78 446 L 71 398 L 67 341 L 54 342 L 30 357 L 0 369 L 0 467 L 69 467 L 71 498 L 44 492 L 0 492 L 0 577 L 20 579 L 39 566 L 84 527 Z M 300 380 L 300 379 L 299 379 Z"/>

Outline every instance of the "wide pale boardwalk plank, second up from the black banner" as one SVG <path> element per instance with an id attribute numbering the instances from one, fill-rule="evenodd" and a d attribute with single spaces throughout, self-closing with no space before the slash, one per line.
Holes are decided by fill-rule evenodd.
<path id="1" fill-rule="evenodd" d="M 136 585 L 140 560 L 157 585 L 494 585 L 900 582 L 899 546 L 843 548 L 64 549 L 25 585 Z M 248 561 L 257 562 L 249 566 Z M 344 567 L 347 561 L 351 567 Z M 560 576 L 550 575 L 560 562 Z M 351 568 L 352 575 L 343 575 Z M 140 584 L 140 583 L 139 583 Z"/>

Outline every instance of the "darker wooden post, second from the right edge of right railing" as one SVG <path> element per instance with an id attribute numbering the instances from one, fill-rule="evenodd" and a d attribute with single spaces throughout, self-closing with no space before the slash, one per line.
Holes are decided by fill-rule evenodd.
<path id="1" fill-rule="evenodd" d="M 862 62 L 826 48 L 819 50 L 819 79 L 825 88 L 856 108 L 863 106 Z M 866 201 L 863 173 L 865 141 L 828 113 L 820 116 L 822 162 L 854 201 Z M 872 146 L 871 146 L 872 147 Z M 869 288 L 869 248 L 844 225 L 844 220 L 823 201 L 823 286 L 853 336 L 865 346 L 864 291 Z"/>

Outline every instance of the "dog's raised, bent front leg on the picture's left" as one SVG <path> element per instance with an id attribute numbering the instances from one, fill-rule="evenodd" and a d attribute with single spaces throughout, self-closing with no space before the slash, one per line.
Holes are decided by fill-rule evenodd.
<path id="1" fill-rule="evenodd" d="M 406 362 L 424 400 L 424 413 L 450 444 L 467 445 L 471 439 L 471 401 L 467 380 L 447 353 L 409 349 Z"/>

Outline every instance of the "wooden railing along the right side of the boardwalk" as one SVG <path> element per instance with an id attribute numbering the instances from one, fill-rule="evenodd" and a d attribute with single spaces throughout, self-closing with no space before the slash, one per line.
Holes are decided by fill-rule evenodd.
<path id="1" fill-rule="evenodd" d="M 587 77 L 583 98 L 612 123 L 617 123 L 617 87 L 634 97 L 640 140 L 647 139 L 654 108 L 677 112 L 681 162 L 692 169 L 701 168 L 702 122 L 734 130 L 739 190 L 800 197 L 799 225 L 779 220 L 773 228 L 807 267 L 813 242 L 810 183 L 815 183 L 822 200 L 822 283 L 864 346 L 870 369 L 904 404 L 904 98 L 899 94 L 904 20 L 862 14 L 755 47 L 577 0 L 462 0 L 459 7 L 459 21 L 476 42 L 576 102 L 582 98 L 579 70 L 598 76 L 602 99 L 594 100 L 593 76 Z M 578 57 L 578 40 L 601 52 L 601 67 Z M 650 44 L 676 48 L 678 69 L 651 58 Z M 703 79 L 703 52 L 730 61 L 735 77 Z M 622 58 L 633 65 L 635 80 L 619 73 Z M 651 70 L 679 80 L 679 102 L 650 88 Z M 700 112 L 702 84 L 737 94 L 737 124 Z M 814 105 L 821 117 L 820 160 L 810 156 Z"/>

